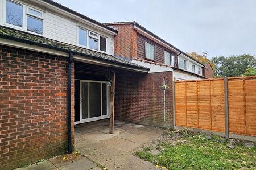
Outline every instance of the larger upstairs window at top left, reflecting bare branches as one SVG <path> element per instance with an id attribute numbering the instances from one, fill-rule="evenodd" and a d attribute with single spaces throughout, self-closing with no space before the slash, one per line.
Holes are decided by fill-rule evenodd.
<path id="1" fill-rule="evenodd" d="M 6 0 L 5 23 L 23 31 L 43 34 L 43 12 L 20 3 Z M 26 13 L 24 13 L 26 10 Z"/>

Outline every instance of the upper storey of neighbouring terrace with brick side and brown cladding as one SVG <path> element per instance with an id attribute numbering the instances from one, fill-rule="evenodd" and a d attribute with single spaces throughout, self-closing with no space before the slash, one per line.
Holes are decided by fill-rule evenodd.
<path id="1" fill-rule="evenodd" d="M 150 72 L 172 71 L 175 81 L 205 78 L 204 64 L 174 47 L 137 22 L 105 23 L 118 30 L 114 54 L 150 68 Z"/>

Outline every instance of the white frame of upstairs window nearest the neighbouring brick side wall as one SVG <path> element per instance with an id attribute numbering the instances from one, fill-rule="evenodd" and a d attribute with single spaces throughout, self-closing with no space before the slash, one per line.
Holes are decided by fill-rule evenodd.
<path id="1" fill-rule="evenodd" d="M 79 44 L 79 28 L 81 30 L 87 31 L 86 45 Z M 92 34 L 96 34 L 97 36 L 92 35 Z M 101 37 L 106 39 L 106 51 L 101 51 L 101 49 L 100 49 L 100 38 Z M 93 39 L 97 39 L 98 40 L 98 50 L 89 48 L 89 38 L 93 38 Z M 101 52 L 101 53 L 108 53 L 108 37 L 104 36 L 104 35 L 101 35 L 101 34 L 98 34 L 98 33 L 94 32 L 94 31 L 90 31 L 87 28 L 84 28 L 84 27 L 81 27 L 81 26 L 77 26 L 77 46 L 82 47 L 82 48 L 86 48 L 86 49 L 90 49 L 92 51 L 97 51 L 97 52 Z"/>

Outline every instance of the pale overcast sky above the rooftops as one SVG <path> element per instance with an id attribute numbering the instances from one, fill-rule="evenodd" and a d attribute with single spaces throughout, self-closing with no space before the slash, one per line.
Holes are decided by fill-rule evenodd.
<path id="1" fill-rule="evenodd" d="M 137 21 L 184 52 L 256 55 L 256 0 L 55 0 L 98 22 Z"/>

